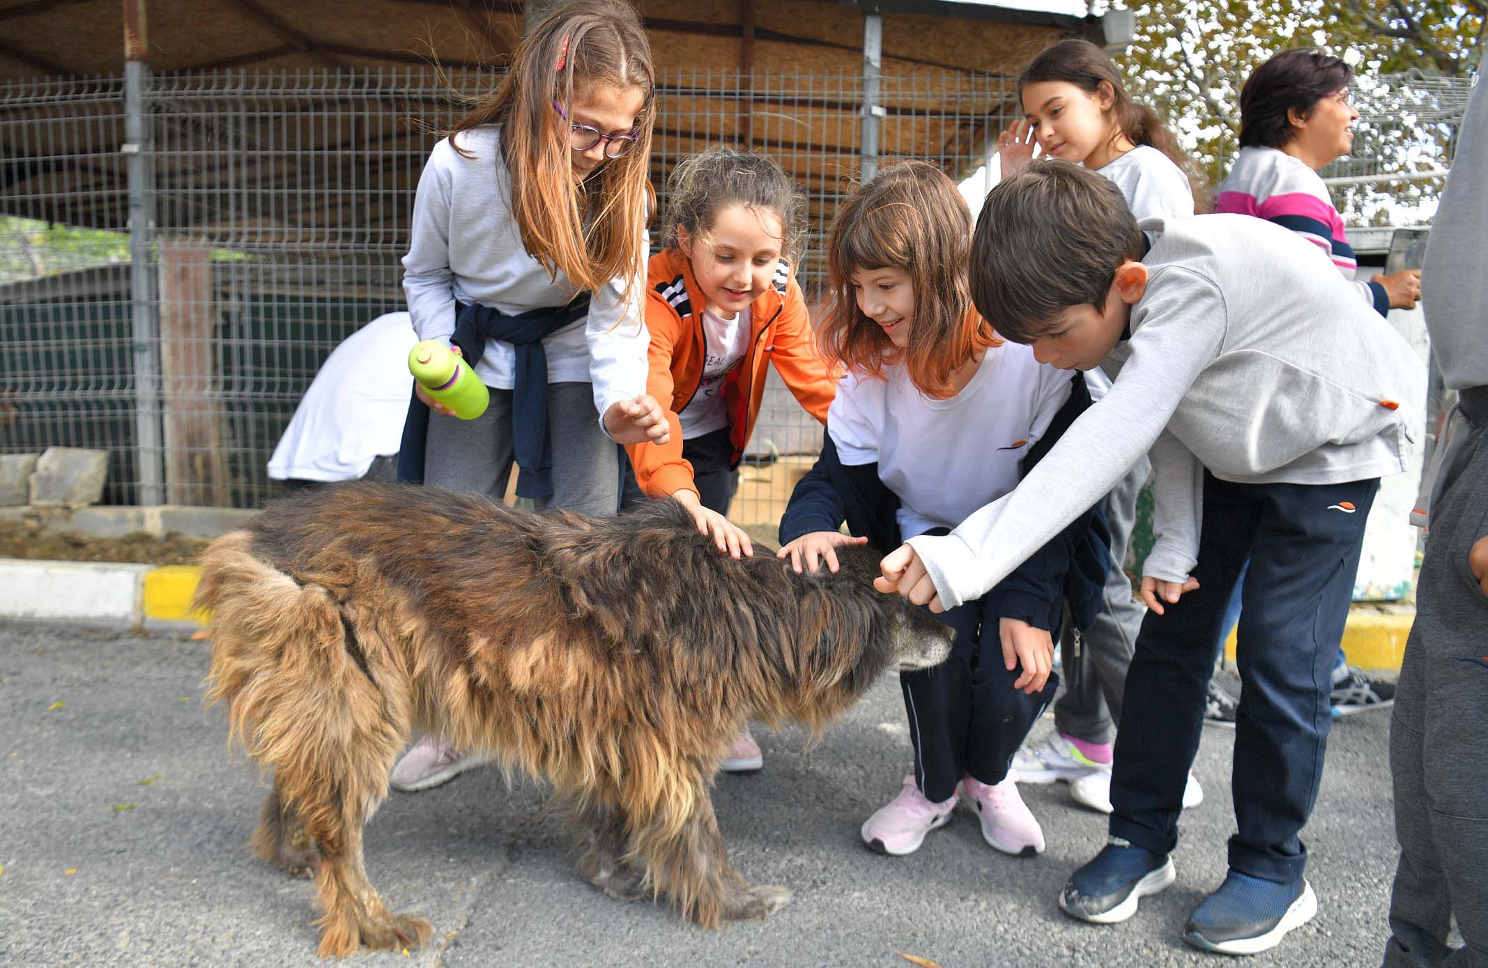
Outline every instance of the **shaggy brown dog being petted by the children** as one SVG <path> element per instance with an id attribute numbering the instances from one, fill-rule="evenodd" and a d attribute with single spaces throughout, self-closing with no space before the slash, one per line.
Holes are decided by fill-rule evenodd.
<path id="1" fill-rule="evenodd" d="M 423 943 L 382 907 L 362 828 L 415 730 L 546 778 L 583 874 L 616 898 L 667 895 L 717 926 L 790 898 L 729 865 L 710 787 L 747 720 L 814 733 L 890 666 L 926 668 L 951 633 L 841 572 L 734 561 L 687 513 L 534 514 L 406 485 L 272 504 L 202 555 L 208 702 L 274 791 L 254 852 L 314 870 L 320 953 Z"/>

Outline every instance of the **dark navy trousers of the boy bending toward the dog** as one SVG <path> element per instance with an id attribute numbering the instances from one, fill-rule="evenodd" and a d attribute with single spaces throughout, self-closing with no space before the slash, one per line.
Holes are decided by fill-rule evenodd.
<path id="1" fill-rule="evenodd" d="M 1323 778 L 1329 691 L 1378 479 L 1240 485 L 1204 474 L 1199 587 L 1149 613 L 1126 672 L 1112 773 L 1110 833 L 1168 854 L 1204 729 L 1225 605 L 1250 558 L 1240 617 L 1229 865 L 1293 882 Z"/>

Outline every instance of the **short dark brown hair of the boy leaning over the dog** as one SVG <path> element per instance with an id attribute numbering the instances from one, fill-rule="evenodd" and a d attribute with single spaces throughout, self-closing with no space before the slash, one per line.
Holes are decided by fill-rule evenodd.
<path id="1" fill-rule="evenodd" d="M 1070 306 L 1106 309 L 1141 232 L 1116 183 L 1049 159 L 987 195 L 972 236 L 972 302 L 997 333 L 1031 343 Z"/>

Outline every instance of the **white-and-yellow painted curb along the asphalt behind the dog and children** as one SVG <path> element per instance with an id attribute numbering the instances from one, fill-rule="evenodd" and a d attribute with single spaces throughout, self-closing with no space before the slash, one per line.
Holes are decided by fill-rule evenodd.
<path id="1" fill-rule="evenodd" d="M 0 619 L 110 626 L 202 625 L 190 610 L 195 565 L 116 565 L 0 558 Z M 1362 669 L 1396 671 L 1415 622 L 1411 605 L 1357 602 L 1344 629 L 1344 654 Z M 1225 642 L 1235 659 L 1235 636 Z"/>

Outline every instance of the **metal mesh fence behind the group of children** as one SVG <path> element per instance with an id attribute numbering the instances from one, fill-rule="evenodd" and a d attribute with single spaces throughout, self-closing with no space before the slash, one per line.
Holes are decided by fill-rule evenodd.
<path id="1" fill-rule="evenodd" d="M 458 98 L 493 80 L 164 74 L 146 79 L 137 143 L 121 77 L 0 85 L 0 454 L 107 449 L 112 503 L 274 497 L 268 455 L 320 363 L 405 308 L 399 259 L 418 174 Z M 1357 174 L 1445 168 L 1466 82 L 1375 80 L 1362 89 L 1362 128 L 1373 120 L 1381 149 L 1350 162 Z M 863 79 L 687 71 L 659 83 L 653 183 L 710 143 L 772 155 L 808 193 L 799 275 L 815 302 L 826 226 L 860 172 Z M 879 153 L 934 161 L 955 178 L 979 168 L 1015 113 L 1001 76 L 923 68 L 878 85 Z M 131 196 L 134 150 L 150 177 Z M 1426 201 L 1440 189 L 1409 184 Z M 146 226 L 146 285 L 131 284 L 131 214 Z M 137 376 L 140 360 L 159 378 Z M 734 516 L 772 520 L 820 433 L 772 385 Z"/>

